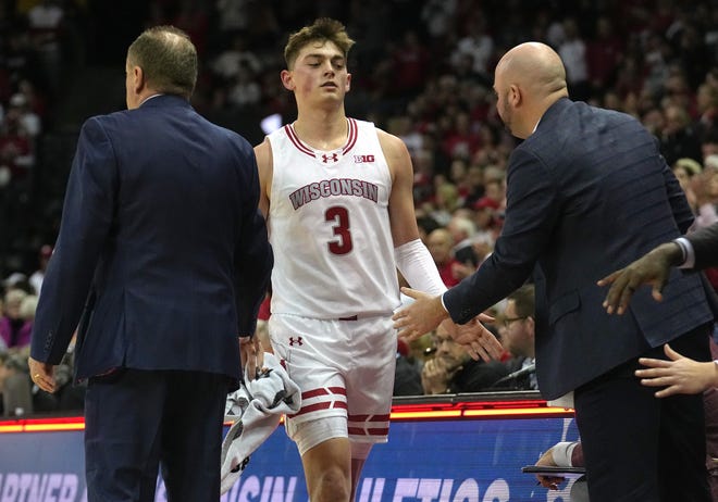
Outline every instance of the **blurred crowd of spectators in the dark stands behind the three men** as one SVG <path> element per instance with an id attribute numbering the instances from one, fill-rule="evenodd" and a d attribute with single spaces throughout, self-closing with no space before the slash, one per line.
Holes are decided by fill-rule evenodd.
<path id="1" fill-rule="evenodd" d="M 718 221 L 718 0 L 0 0 L 0 392 L 29 392 L 5 400 L 4 414 L 82 406 L 71 386 L 53 397 L 32 388 L 26 346 L 79 127 L 125 108 L 128 43 L 151 25 L 186 30 L 200 55 L 194 106 L 256 145 L 295 116 L 278 78 L 282 51 L 289 33 L 318 16 L 341 20 L 357 40 L 347 114 L 409 149 L 418 222 L 447 286 L 481 264 L 500 231 L 516 140 L 495 110 L 493 68 L 527 40 L 557 50 L 572 99 L 639 117 L 696 225 Z M 708 275 L 718 286 L 716 271 Z M 511 305 L 497 305 L 505 340 L 533 309 L 505 314 Z M 410 385 L 397 393 L 481 390 L 532 364 L 532 350 L 513 344 L 503 367 L 459 387 L 468 362 L 446 363 L 442 381 L 424 364 L 449 343 L 431 334 L 418 347 L 400 344 Z M 535 388 L 530 378 L 520 387 Z"/>

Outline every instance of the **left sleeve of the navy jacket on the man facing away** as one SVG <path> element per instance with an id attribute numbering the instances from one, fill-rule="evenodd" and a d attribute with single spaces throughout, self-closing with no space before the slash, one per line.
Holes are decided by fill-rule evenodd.
<path id="1" fill-rule="evenodd" d="M 114 216 L 117 173 L 112 143 L 97 118 L 79 133 L 58 241 L 35 315 L 30 355 L 58 364 L 77 327 Z"/>

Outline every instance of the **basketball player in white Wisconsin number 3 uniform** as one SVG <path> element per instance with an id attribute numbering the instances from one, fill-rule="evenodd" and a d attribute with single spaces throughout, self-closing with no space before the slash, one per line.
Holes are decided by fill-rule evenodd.
<path id="1" fill-rule="evenodd" d="M 302 390 L 286 428 L 312 502 L 354 500 L 372 444 L 387 440 L 396 268 L 446 289 L 419 239 L 406 146 L 345 115 L 352 45 L 330 18 L 289 37 L 281 78 L 297 120 L 255 148 L 275 256 L 270 339 Z"/>

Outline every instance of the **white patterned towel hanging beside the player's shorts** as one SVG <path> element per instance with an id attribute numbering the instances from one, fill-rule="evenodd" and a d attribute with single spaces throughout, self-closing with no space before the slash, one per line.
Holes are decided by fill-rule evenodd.
<path id="1" fill-rule="evenodd" d="M 301 392 L 278 360 L 264 353 L 264 371 L 227 394 L 225 419 L 233 421 L 222 441 L 222 494 L 242 477 L 255 452 L 280 425 L 283 414 L 297 413 Z"/>

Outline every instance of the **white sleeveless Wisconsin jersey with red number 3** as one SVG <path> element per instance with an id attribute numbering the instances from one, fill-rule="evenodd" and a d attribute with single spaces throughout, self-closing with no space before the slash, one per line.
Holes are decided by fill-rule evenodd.
<path id="1" fill-rule="evenodd" d="M 399 305 L 388 165 L 374 125 L 347 121 L 346 145 L 330 152 L 292 125 L 269 136 L 273 314 L 341 318 Z"/>

